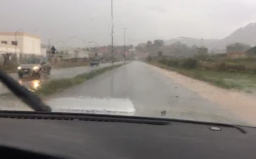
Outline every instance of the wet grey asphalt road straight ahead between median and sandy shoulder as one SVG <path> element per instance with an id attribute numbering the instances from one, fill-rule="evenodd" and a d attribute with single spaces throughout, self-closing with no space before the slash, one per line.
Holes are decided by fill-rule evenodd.
<path id="1" fill-rule="evenodd" d="M 46 99 L 53 111 L 166 117 L 249 125 L 216 103 L 134 61 Z M 0 99 L 2 110 L 30 110 Z"/>

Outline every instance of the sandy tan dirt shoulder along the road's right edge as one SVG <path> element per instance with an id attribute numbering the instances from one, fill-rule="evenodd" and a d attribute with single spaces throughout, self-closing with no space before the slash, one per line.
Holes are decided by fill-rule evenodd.
<path id="1" fill-rule="evenodd" d="M 149 67 L 173 79 L 175 83 L 197 92 L 201 97 L 229 109 L 248 123 L 256 126 L 256 97 L 243 92 L 222 89 L 153 65 L 149 65 Z"/>

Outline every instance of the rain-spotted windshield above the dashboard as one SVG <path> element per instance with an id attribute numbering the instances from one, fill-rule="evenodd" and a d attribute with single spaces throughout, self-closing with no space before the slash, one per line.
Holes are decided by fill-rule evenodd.
<path id="1" fill-rule="evenodd" d="M 256 1 L 0 6 L 0 68 L 52 111 L 256 126 Z M 0 94 L 1 110 L 32 111 Z"/>

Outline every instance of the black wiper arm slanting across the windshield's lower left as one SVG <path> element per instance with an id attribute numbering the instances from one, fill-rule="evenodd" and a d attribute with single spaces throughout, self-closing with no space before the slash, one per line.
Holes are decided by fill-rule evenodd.
<path id="1" fill-rule="evenodd" d="M 4 83 L 18 98 L 26 103 L 34 111 L 51 112 L 52 108 L 45 103 L 33 92 L 0 69 L 0 80 Z"/>

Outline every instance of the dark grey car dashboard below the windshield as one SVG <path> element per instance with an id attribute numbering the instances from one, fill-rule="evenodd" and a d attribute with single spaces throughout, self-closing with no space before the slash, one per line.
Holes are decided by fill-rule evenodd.
<path id="1" fill-rule="evenodd" d="M 2 146 L 43 158 L 248 159 L 256 155 L 255 128 L 218 123 L 5 111 L 0 113 L 0 125 Z"/>

